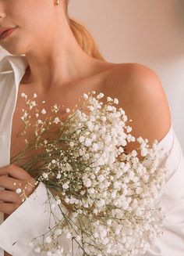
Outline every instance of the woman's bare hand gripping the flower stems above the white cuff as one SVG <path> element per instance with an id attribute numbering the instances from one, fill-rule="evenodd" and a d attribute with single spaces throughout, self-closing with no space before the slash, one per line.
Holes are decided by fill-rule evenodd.
<path id="1" fill-rule="evenodd" d="M 30 182 L 32 186 L 27 184 L 27 182 Z M 23 204 L 23 197 L 20 197 L 23 194 L 23 189 L 26 197 L 29 197 L 37 187 L 35 182 L 36 179 L 31 177 L 27 171 L 14 164 L 0 168 L 0 187 L 5 188 L 0 189 L 0 200 L 2 200 L 0 202 L 0 212 L 3 212 L 7 217 L 13 211 L 16 211 L 20 204 Z M 25 189 L 26 186 L 27 188 Z M 22 189 L 22 192 L 16 193 L 16 189 Z"/>

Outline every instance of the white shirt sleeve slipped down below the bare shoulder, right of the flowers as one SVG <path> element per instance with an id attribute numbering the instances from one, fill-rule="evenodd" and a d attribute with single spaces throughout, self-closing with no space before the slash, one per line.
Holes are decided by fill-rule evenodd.
<path id="1" fill-rule="evenodd" d="M 162 235 L 150 244 L 145 254 L 136 256 L 184 255 L 184 157 L 179 140 L 172 130 L 159 146 L 168 152 L 167 178 L 161 205 L 165 208 Z"/>

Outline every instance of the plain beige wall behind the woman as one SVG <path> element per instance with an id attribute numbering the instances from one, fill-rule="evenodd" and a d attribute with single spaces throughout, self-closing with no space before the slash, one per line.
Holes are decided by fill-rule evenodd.
<path id="1" fill-rule="evenodd" d="M 104 58 L 142 63 L 161 78 L 184 150 L 184 0 L 70 0 Z M 0 58 L 7 52 L 0 49 Z"/>

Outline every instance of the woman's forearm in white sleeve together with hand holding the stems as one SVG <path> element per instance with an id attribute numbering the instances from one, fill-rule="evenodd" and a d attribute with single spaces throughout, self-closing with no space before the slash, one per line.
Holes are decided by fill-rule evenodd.
<path id="1" fill-rule="evenodd" d="M 28 243 L 37 236 L 41 236 L 38 241 L 42 242 L 42 235 L 55 225 L 55 219 L 62 220 L 58 205 L 51 208 L 56 200 L 43 182 L 34 187 L 27 186 L 27 199 L 22 202 L 16 189 L 24 188 L 25 182 L 32 179 L 27 171 L 14 164 L 0 168 L 0 186 L 5 188 L 0 191 L 0 211 L 5 214 L 0 225 L 0 247 L 13 256 L 33 256 L 34 248 L 28 247 Z M 64 206 L 62 210 L 65 211 Z"/>

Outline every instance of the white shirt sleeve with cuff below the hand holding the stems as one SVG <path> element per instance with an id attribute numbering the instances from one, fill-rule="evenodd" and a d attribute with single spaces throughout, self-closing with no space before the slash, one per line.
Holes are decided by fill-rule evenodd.
<path id="1" fill-rule="evenodd" d="M 34 193 L 27 197 L 16 211 L 12 212 L 8 218 L 0 225 L 0 247 L 13 256 L 34 256 L 35 247 L 27 244 L 37 236 L 47 233 L 55 225 L 55 218 L 62 220 L 62 211 L 66 212 L 62 205 L 62 211 L 56 205 L 50 210 L 50 205 L 55 203 L 54 197 L 48 203 L 48 189 L 43 182 L 39 182 Z M 49 191 L 49 193 L 51 193 Z M 51 215 L 51 211 L 54 215 Z M 54 217 L 55 216 L 55 217 Z M 37 239 L 42 243 L 43 236 Z M 67 241 L 61 240 L 61 243 Z M 65 244 L 66 246 L 66 244 Z"/>

